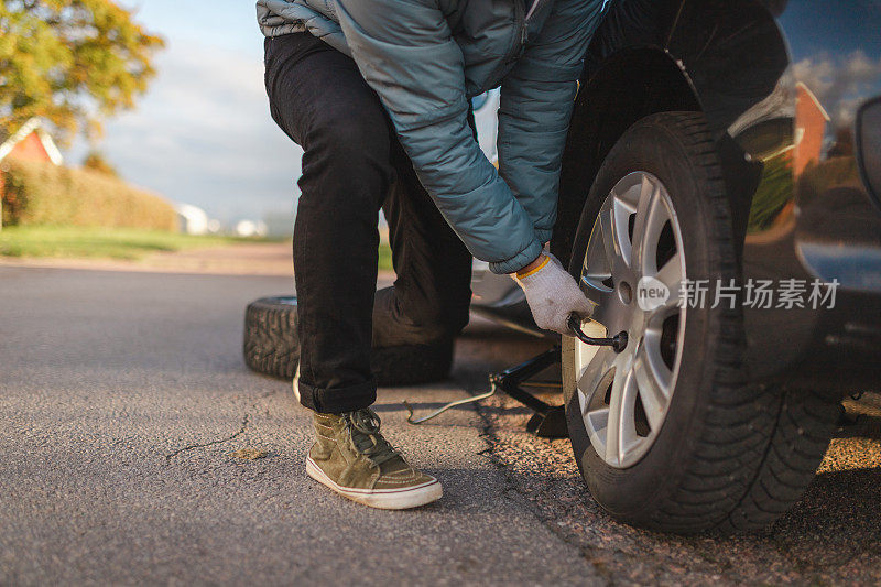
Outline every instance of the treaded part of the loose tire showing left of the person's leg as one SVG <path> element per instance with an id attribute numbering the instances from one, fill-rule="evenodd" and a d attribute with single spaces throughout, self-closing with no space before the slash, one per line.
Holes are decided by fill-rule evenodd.
<path id="1" fill-rule="evenodd" d="M 261 297 L 248 304 L 244 362 L 260 373 L 293 380 L 300 363 L 296 297 Z"/>

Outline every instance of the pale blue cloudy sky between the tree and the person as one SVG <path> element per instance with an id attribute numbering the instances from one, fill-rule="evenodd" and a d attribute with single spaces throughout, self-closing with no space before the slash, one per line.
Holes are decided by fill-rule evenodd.
<path id="1" fill-rule="evenodd" d="M 126 180 L 229 222 L 292 213 L 302 152 L 275 127 L 251 0 L 122 0 L 165 37 L 137 110 L 98 146 Z M 78 164 L 81 141 L 66 153 Z"/>

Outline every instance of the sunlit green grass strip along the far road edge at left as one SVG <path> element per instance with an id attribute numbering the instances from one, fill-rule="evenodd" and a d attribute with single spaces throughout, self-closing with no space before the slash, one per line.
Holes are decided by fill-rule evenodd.
<path id="1" fill-rule="evenodd" d="M 128 228 L 12 226 L 0 230 L 0 256 L 138 260 L 153 252 L 181 251 L 262 240 L 178 235 Z"/>

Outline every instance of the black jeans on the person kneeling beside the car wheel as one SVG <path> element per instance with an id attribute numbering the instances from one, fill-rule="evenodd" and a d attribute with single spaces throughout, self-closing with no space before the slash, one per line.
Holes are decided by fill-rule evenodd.
<path id="1" fill-rule="evenodd" d="M 294 226 L 301 403 L 359 410 L 377 398 L 371 340 L 426 343 L 468 323 L 471 257 L 351 58 L 294 33 L 267 40 L 265 67 L 272 118 L 304 150 Z M 376 340 L 372 328 L 380 208 L 398 279 L 378 330 L 401 326 L 409 335 L 399 340 Z"/>

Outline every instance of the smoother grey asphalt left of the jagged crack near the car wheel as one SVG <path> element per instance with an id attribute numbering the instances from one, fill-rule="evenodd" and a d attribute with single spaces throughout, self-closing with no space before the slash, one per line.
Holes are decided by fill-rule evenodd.
<path id="1" fill-rule="evenodd" d="M 348 502 L 306 477 L 309 418 L 241 358 L 246 304 L 290 279 L 0 268 L 0 584 L 579 584 L 454 383 L 377 411 L 445 497 Z M 269 452 L 236 459 L 240 448 Z"/>

